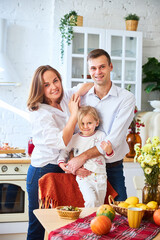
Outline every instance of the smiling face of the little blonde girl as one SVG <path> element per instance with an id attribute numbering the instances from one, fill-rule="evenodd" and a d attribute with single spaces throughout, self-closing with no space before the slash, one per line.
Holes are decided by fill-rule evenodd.
<path id="1" fill-rule="evenodd" d="M 91 114 L 87 114 L 82 118 L 80 131 L 83 136 L 91 136 L 98 125 L 99 121 L 96 121 Z"/>

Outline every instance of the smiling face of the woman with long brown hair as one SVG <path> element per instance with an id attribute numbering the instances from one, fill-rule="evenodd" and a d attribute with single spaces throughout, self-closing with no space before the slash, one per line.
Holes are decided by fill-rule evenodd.
<path id="1" fill-rule="evenodd" d="M 47 70 L 43 74 L 44 95 L 51 101 L 51 105 L 57 102 L 62 94 L 62 84 L 60 79 L 52 70 Z"/>

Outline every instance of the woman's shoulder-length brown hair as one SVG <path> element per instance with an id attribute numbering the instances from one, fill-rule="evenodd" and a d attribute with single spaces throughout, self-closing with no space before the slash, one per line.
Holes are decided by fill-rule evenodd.
<path id="1" fill-rule="evenodd" d="M 44 65 L 44 66 L 38 67 L 32 78 L 29 97 L 28 97 L 28 101 L 27 101 L 27 107 L 30 111 L 38 110 L 39 103 L 49 104 L 48 99 L 46 99 L 45 95 L 44 95 L 43 74 L 46 71 L 53 71 L 57 75 L 57 77 L 59 78 L 59 80 L 62 84 L 61 75 L 56 69 L 52 68 L 49 65 Z M 63 87 L 62 87 L 62 94 L 57 102 L 60 103 L 62 98 L 63 98 Z"/>

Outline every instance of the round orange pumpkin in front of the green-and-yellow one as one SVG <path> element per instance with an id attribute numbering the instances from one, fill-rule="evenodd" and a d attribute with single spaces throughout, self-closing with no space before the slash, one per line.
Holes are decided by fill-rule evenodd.
<path id="1" fill-rule="evenodd" d="M 94 217 L 90 223 L 91 230 L 96 235 L 107 234 L 111 226 L 111 220 L 104 215 Z"/>

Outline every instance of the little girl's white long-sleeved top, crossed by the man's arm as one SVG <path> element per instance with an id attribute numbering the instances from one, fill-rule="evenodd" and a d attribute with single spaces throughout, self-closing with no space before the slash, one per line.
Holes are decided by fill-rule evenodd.
<path id="1" fill-rule="evenodd" d="M 105 138 L 105 133 L 97 130 L 91 136 L 82 136 L 79 133 L 74 134 L 71 141 L 69 142 L 66 151 L 61 151 L 58 163 L 65 162 L 69 156 L 69 152 L 73 150 L 74 157 L 79 156 L 81 153 L 94 147 L 96 143 L 101 143 Z M 106 175 L 106 164 L 104 156 L 89 159 L 84 165 L 84 168 L 94 173 L 101 173 Z"/>

